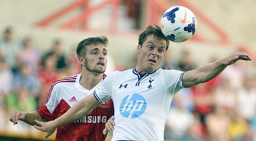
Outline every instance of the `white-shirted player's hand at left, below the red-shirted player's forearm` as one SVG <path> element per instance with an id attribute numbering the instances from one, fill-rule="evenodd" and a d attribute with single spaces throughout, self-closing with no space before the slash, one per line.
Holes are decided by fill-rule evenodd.
<path id="1" fill-rule="evenodd" d="M 35 122 L 36 122 L 36 125 L 34 125 L 34 127 L 37 130 L 46 132 L 46 136 L 44 136 L 45 138 L 48 138 L 48 136 L 52 135 L 56 129 L 56 127 L 53 126 L 53 123 L 52 123 L 53 121 L 41 122 L 41 121 L 35 120 Z"/>

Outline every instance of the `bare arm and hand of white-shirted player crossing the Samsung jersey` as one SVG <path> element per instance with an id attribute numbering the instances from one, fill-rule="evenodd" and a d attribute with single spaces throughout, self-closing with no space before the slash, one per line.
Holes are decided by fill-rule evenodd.
<path id="1" fill-rule="evenodd" d="M 85 97 L 84 99 L 77 102 L 66 113 L 64 113 L 59 118 L 56 118 L 54 121 L 35 121 L 38 126 L 34 125 L 34 127 L 40 131 L 47 132 L 45 137 L 48 138 L 48 136 L 54 133 L 56 127 L 81 119 L 82 117 L 92 112 L 92 110 L 100 104 L 101 102 L 98 102 L 94 95 L 89 95 L 88 97 Z"/>

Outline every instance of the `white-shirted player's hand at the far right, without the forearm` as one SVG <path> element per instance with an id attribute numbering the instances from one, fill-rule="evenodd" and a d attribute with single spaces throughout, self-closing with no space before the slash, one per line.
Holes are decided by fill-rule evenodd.
<path id="1" fill-rule="evenodd" d="M 247 53 L 238 52 L 230 55 L 229 57 L 226 57 L 223 60 L 223 63 L 224 65 L 232 65 L 233 63 L 237 62 L 240 59 L 245 61 L 251 61 L 251 58 Z"/>

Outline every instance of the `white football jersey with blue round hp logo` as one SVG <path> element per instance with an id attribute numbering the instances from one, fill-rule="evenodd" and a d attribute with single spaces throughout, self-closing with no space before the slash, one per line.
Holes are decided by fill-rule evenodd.
<path id="1" fill-rule="evenodd" d="M 164 140 L 172 98 L 184 88 L 183 74 L 160 68 L 143 76 L 135 68 L 110 74 L 94 96 L 100 102 L 114 101 L 112 140 Z"/>

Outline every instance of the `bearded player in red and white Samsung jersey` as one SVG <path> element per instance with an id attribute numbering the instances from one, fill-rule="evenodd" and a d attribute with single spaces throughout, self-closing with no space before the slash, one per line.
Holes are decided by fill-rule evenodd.
<path id="1" fill-rule="evenodd" d="M 108 39 L 105 36 L 90 37 L 82 40 L 77 46 L 77 56 L 81 64 L 81 74 L 56 81 L 52 84 L 45 104 L 34 112 L 10 113 L 10 121 L 18 120 L 35 125 L 38 121 L 52 121 L 68 111 L 78 101 L 89 96 L 100 86 L 106 75 L 108 59 L 106 58 Z M 97 140 L 104 141 L 106 135 L 102 132 L 106 121 L 114 114 L 113 101 L 101 103 L 87 116 L 57 127 L 55 140 Z M 106 134 L 106 133 L 105 133 Z"/>

